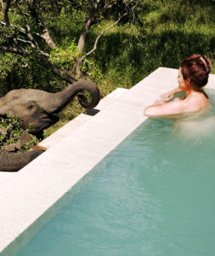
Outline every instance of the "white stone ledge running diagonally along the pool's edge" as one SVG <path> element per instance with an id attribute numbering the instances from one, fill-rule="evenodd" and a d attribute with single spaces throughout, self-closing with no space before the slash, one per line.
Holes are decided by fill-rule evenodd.
<path id="1" fill-rule="evenodd" d="M 178 86 L 178 70 L 159 67 L 130 90 L 105 97 L 89 116 L 82 113 L 41 145 L 48 150 L 20 172 L 0 172 L 0 254 L 52 207 L 93 166 L 134 131 L 144 108 Z M 208 88 L 215 89 L 215 75 Z M 2 253 L 1 253 L 2 252 Z"/>

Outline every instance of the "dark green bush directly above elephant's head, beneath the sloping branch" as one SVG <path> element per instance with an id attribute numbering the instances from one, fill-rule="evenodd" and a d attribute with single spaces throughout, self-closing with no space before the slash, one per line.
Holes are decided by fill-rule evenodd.
<path id="1" fill-rule="evenodd" d="M 60 83 L 51 71 L 37 63 L 34 55 L 24 58 L 0 52 L 0 96 L 20 88 L 57 91 Z"/>

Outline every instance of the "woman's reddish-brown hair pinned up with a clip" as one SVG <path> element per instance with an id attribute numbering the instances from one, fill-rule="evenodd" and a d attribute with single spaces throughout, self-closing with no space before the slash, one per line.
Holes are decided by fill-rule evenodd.
<path id="1" fill-rule="evenodd" d="M 181 62 L 180 67 L 184 79 L 190 79 L 194 90 L 201 90 L 207 84 L 211 71 L 211 61 L 207 56 L 191 55 Z"/>

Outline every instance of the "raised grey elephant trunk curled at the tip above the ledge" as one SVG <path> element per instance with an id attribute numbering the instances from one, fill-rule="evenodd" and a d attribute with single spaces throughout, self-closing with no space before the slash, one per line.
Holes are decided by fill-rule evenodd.
<path id="1" fill-rule="evenodd" d="M 88 102 L 84 91 L 88 91 L 91 100 Z M 96 84 L 89 81 L 78 81 L 69 85 L 65 90 L 57 93 L 46 93 L 41 99 L 40 106 L 48 113 L 58 113 L 67 105 L 74 96 L 78 96 L 78 101 L 83 108 L 94 108 L 100 100 L 99 89 Z"/>

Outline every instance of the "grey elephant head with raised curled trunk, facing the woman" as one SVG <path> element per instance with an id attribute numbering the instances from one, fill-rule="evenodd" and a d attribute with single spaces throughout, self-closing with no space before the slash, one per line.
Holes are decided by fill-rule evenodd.
<path id="1" fill-rule="evenodd" d="M 84 96 L 85 90 L 90 93 L 91 102 Z M 54 125 L 58 121 L 54 113 L 62 110 L 76 95 L 83 108 L 94 108 L 99 103 L 96 84 L 82 80 L 57 93 L 35 89 L 11 90 L 0 99 L 0 116 L 19 116 L 23 128 L 28 129 L 31 125 L 31 133 L 37 134 Z"/>

